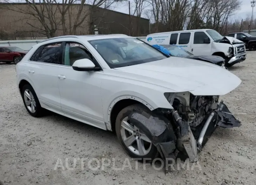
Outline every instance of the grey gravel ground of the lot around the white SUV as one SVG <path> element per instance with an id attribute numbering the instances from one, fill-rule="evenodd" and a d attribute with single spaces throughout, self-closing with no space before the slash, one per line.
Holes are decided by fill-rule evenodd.
<path id="1" fill-rule="evenodd" d="M 233 113 L 256 115 L 256 52 L 247 53 L 245 61 L 229 69 L 242 83 L 221 99 Z M 30 116 L 16 87 L 15 65 L 0 63 L 0 180 L 13 185 L 256 184 L 256 116 L 250 114 L 236 115 L 240 128 L 217 129 L 194 168 L 177 165 L 165 175 L 153 165 L 143 170 L 137 163 L 136 168 L 111 132 L 56 114 Z M 88 161 L 93 158 L 112 162 L 92 170 L 88 164 L 97 163 Z"/>

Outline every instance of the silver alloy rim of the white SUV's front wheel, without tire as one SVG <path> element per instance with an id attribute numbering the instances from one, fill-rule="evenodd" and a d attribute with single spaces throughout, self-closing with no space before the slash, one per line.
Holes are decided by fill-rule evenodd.
<path id="1" fill-rule="evenodd" d="M 128 117 L 122 120 L 120 131 L 124 145 L 130 151 L 139 156 L 149 153 L 152 146 L 151 141 L 139 128 L 129 123 Z"/>

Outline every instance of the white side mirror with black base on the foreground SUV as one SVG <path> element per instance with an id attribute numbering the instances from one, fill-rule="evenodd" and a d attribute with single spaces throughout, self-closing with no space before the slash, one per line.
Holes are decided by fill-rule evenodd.
<path id="1" fill-rule="evenodd" d="M 89 59 L 79 59 L 74 62 L 72 68 L 75 71 L 99 71 L 100 68 L 95 66 Z"/>

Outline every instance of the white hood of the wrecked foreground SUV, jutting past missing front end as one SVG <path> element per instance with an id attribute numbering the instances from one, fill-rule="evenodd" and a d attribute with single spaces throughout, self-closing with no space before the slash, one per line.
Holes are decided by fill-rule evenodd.
<path id="1" fill-rule="evenodd" d="M 236 75 L 220 66 L 178 57 L 115 69 L 133 80 L 157 84 L 169 88 L 170 92 L 189 91 L 194 95 L 224 95 L 241 83 Z"/>

